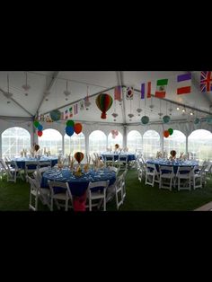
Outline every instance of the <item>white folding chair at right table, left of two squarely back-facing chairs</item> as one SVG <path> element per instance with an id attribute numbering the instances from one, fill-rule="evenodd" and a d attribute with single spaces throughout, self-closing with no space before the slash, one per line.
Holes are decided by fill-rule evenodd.
<path id="1" fill-rule="evenodd" d="M 172 191 L 172 181 L 174 178 L 173 167 L 160 165 L 159 189 L 170 189 Z"/>

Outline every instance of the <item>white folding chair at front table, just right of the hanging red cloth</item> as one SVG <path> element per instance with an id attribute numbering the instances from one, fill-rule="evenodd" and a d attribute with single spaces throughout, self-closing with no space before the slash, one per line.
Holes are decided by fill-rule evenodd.
<path id="1" fill-rule="evenodd" d="M 93 206 L 99 206 L 103 201 L 103 210 L 106 211 L 106 190 L 109 186 L 110 181 L 97 181 L 89 182 L 88 185 L 88 200 L 89 210 L 92 211 Z M 98 200 L 98 203 L 92 203 L 92 201 Z"/>

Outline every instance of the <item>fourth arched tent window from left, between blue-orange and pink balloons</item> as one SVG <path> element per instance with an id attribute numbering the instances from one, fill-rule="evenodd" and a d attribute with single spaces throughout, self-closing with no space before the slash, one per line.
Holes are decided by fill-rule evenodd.
<path id="1" fill-rule="evenodd" d="M 93 131 L 89 136 L 89 153 L 106 151 L 107 137 L 101 130 Z"/>

